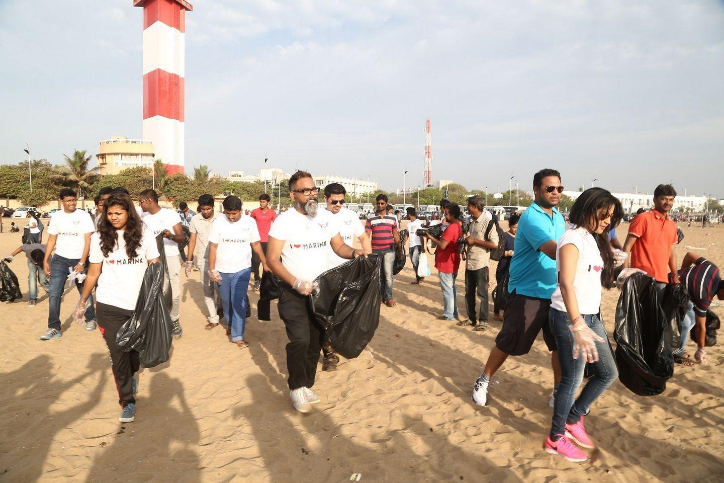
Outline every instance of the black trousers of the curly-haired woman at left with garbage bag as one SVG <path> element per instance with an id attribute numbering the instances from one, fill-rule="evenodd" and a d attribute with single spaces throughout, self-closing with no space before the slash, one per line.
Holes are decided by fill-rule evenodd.
<path id="1" fill-rule="evenodd" d="M 125 310 L 105 303 L 96 302 L 96 322 L 101 328 L 101 335 L 106 340 L 108 351 L 111 353 L 111 369 L 116 379 L 118 402 L 122 407 L 129 403 L 135 404 L 131 378 L 140 369 L 138 352 L 131 350 L 124 352 L 116 344 L 116 333 L 133 314 L 132 310 Z"/>

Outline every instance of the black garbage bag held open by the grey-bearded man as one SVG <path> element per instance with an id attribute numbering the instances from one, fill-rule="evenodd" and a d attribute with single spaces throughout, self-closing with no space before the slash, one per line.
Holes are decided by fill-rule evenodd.
<path id="1" fill-rule="evenodd" d="M 334 352 L 348 359 L 364 350 L 379 324 L 379 269 L 382 256 L 371 253 L 319 275 L 311 309 Z"/>

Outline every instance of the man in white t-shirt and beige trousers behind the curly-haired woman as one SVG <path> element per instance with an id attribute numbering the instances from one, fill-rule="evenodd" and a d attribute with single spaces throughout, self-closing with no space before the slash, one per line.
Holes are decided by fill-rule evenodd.
<path id="1" fill-rule="evenodd" d="M 169 269 L 169 279 L 171 280 L 171 293 L 173 296 L 173 305 L 171 307 L 171 320 L 173 321 L 174 330 L 172 335 L 179 338 L 183 335 L 181 324 L 179 323 L 179 306 L 181 302 L 181 257 L 179 253 L 179 243 L 183 243 L 184 233 L 181 228 L 181 218 L 179 214 L 168 208 L 159 206 L 159 194 L 154 190 L 145 190 L 138 195 L 138 206 L 146 214 L 143 222 L 151 231 L 151 236 L 163 233 L 164 235 L 164 253 L 166 253 L 166 264 Z"/>

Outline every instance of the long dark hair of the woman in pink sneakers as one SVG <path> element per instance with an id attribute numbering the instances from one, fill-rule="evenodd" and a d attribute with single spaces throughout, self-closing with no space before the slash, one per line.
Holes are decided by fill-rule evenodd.
<path id="1" fill-rule="evenodd" d="M 569 220 L 571 224 L 577 227 L 584 227 L 589 230 L 589 223 L 593 222 L 593 228 L 597 227 L 600 220 L 598 212 L 602 209 L 613 207 L 613 215 L 611 216 L 611 224 L 606 227 L 602 233 L 592 233 L 596 240 L 598 250 L 603 259 L 603 269 L 601 271 L 601 285 L 605 288 L 613 287 L 613 250 L 611 242 L 608 240 L 608 234 L 611 230 L 618 226 L 623 218 L 623 207 L 618 198 L 613 196 L 609 191 L 603 188 L 589 188 L 578 196 L 576 203 L 571 207 L 571 215 Z"/>

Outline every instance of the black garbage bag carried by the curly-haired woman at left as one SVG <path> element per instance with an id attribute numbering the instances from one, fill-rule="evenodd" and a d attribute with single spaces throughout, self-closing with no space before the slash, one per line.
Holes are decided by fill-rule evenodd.
<path id="1" fill-rule="evenodd" d="M 143 367 L 168 361 L 171 350 L 171 280 L 161 235 L 156 237 L 156 243 L 161 258 L 146 268 L 133 314 L 116 335 L 116 343 L 125 352 L 138 351 Z"/>

